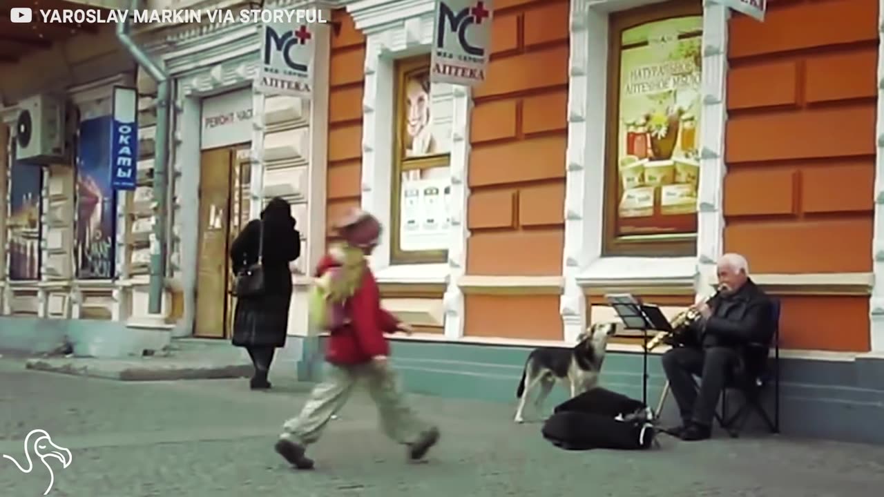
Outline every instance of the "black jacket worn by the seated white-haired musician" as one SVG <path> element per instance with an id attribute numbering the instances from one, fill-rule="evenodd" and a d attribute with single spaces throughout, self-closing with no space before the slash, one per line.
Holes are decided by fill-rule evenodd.
<path id="1" fill-rule="evenodd" d="M 773 301 L 751 279 L 735 294 L 709 301 L 713 315 L 697 323 L 703 348 L 766 347 L 773 339 Z"/>

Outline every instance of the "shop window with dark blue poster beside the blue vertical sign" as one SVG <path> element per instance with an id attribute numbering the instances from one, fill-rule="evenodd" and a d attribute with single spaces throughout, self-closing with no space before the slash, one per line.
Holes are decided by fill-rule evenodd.
<path id="1" fill-rule="evenodd" d="M 117 192 L 110 186 L 110 116 L 80 122 L 77 140 L 78 279 L 112 279 L 117 241 Z"/>

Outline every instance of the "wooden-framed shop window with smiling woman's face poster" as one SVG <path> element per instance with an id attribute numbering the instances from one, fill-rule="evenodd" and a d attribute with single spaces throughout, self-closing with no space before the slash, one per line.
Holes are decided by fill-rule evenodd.
<path id="1" fill-rule="evenodd" d="M 396 65 L 392 264 L 445 262 L 451 226 L 453 88 L 430 82 L 430 57 Z"/>

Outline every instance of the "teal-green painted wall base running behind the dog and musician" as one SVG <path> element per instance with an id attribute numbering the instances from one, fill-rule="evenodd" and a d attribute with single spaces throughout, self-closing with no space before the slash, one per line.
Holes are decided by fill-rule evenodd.
<path id="1" fill-rule="evenodd" d="M 317 346 L 320 341 L 316 340 Z M 316 348 L 312 350 L 315 358 L 320 357 Z M 392 341 L 392 363 L 401 372 L 409 392 L 508 402 L 514 413 L 515 390 L 529 353 L 530 348 L 523 347 Z M 648 404 L 656 409 L 666 383 L 659 356 L 648 357 L 648 372 Z M 306 374 L 300 378 L 308 379 Z M 318 378 L 316 369 L 309 371 L 309 378 Z M 641 399 L 642 356 L 608 353 L 601 383 Z M 766 404 L 773 413 L 773 386 L 766 394 Z M 557 387 L 546 401 L 545 410 L 551 411 L 567 395 L 564 387 Z M 731 394 L 730 398 L 731 409 L 736 409 L 738 394 Z M 879 428 L 884 419 L 884 360 L 781 359 L 780 406 L 784 435 L 884 445 L 884 431 Z M 530 415 L 526 409 L 526 416 Z M 661 417 L 664 424 L 679 421 L 671 395 Z M 763 433 L 762 426 L 760 420 L 752 417 L 746 431 Z"/>

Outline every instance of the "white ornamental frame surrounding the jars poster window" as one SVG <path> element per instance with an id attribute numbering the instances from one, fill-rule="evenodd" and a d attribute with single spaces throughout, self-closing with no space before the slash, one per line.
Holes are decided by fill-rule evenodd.
<path id="1" fill-rule="evenodd" d="M 714 278 L 722 251 L 721 188 L 725 174 L 728 9 L 703 6 L 703 106 L 697 199 L 697 256 L 602 256 L 609 15 L 664 0 L 571 0 L 568 61 L 564 292 L 560 315 L 567 342 L 586 329 L 583 287 L 685 284 L 699 288 Z M 701 0 L 697 0 L 700 2 Z"/>

